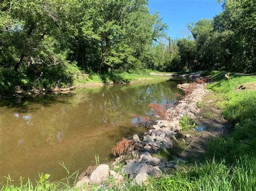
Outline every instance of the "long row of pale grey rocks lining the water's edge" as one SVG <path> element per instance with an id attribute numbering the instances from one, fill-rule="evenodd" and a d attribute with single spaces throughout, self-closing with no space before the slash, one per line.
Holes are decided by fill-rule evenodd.
<path id="1" fill-rule="evenodd" d="M 178 104 L 166 111 L 164 120 L 158 120 L 142 137 L 133 136 L 134 144 L 132 151 L 128 154 L 121 155 L 111 164 L 99 165 L 89 176 L 83 176 L 82 180 L 77 183 L 77 187 L 87 184 L 100 185 L 112 176 L 117 185 L 122 185 L 127 176 L 133 183 L 142 184 L 147 181 L 149 176 L 159 178 L 161 174 L 170 172 L 171 168 L 177 167 L 179 162 L 185 162 L 179 158 L 173 161 L 158 159 L 153 157 L 160 148 L 171 149 L 172 143 L 177 142 L 177 132 L 181 130 L 179 120 L 184 115 L 194 118 L 200 109 L 197 104 L 201 98 L 208 93 L 204 84 L 195 82 L 179 84 L 178 88 L 183 89 L 186 95 Z M 125 162 L 124 162 L 125 161 Z M 118 164 L 124 162 L 122 170 L 115 172 L 115 168 L 120 168 Z"/>

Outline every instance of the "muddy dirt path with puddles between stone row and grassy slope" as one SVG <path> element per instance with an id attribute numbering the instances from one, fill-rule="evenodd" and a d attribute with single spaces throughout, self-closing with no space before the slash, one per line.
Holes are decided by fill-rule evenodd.
<path id="1" fill-rule="evenodd" d="M 228 133 L 227 121 L 221 116 L 221 111 L 214 106 L 217 100 L 213 101 L 211 98 L 214 100 L 216 97 L 213 94 L 203 97 L 201 111 L 194 119 L 198 126 L 197 130 L 184 132 L 184 135 L 191 135 L 191 137 L 184 138 L 186 147 L 183 152 L 178 153 L 179 158 L 188 161 L 200 159 L 207 151 L 209 139 Z"/>

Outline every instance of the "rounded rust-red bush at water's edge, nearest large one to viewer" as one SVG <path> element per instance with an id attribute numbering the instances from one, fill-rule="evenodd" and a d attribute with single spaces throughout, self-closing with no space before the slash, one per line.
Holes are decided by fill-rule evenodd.
<path id="1" fill-rule="evenodd" d="M 133 149 L 134 140 L 127 140 L 126 138 L 123 138 L 120 140 L 116 146 L 112 148 L 113 155 L 121 155 L 126 154 L 127 151 L 129 151 L 129 148 Z"/>

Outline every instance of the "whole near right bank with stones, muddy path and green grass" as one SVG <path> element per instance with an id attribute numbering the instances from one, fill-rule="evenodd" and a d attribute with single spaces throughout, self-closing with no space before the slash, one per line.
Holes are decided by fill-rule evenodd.
<path id="1" fill-rule="evenodd" d="M 255 155 L 253 152 L 255 143 L 255 83 L 255 77 L 253 76 L 240 77 L 231 75 L 229 80 L 224 77 L 206 86 L 202 84 L 193 85 L 192 87 L 189 85 L 180 86 L 188 94 L 192 95 L 187 96 L 187 98 L 185 96 L 185 100 L 181 99 L 173 110 L 167 112 L 166 119 L 168 121 L 158 121 L 154 124 L 156 126 L 152 126 L 151 133 L 149 129 L 141 138 L 134 136 L 134 139 L 138 142 L 133 140 L 132 145 L 137 145 L 138 147 L 134 146 L 131 154 L 129 154 L 130 158 L 127 158 L 128 160 L 125 157 L 121 157 L 114 163 L 106 164 L 107 167 L 106 165 L 99 165 L 96 158 L 96 167 L 101 166 L 100 172 L 103 172 L 103 170 L 109 172 L 103 176 L 104 181 L 99 183 L 100 187 L 112 189 L 164 188 L 170 190 L 214 188 L 248 190 L 255 187 L 253 179 L 255 173 Z M 193 95 L 193 91 L 197 90 L 197 87 L 199 87 L 199 90 Z M 204 93 L 206 95 L 201 96 Z M 191 97 L 194 97 L 195 102 L 191 100 Z M 194 103 L 196 104 L 194 105 Z M 189 107 L 186 105 L 189 105 Z M 191 112 L 191 108 L 194 112 Z M 202 158 L 183 158 L 180 154 L 184 150 L 195 150 L 194 144 L 200 138 L 204 138 L 205 135 L 205 132 L 193 130 L 195 128 L 193 121 L 207 119 L 214 122 L 219 118 L 220 114 L 212 108 L 222 110 L 222 115 L 230 122 L 229 133 L 227 135 L 225 133 L 221 134 L 222 131 L 220 129 L 217 137 L 211 137 L 211 140 L 206 138 L 206 148 L 204 148 L 206 153 L 201 153 Z M 197 109 L 201 109 L 201 111 L 197 113 Z M 182 112 L 190 115 L 190 118 L 183 116 L 178 123 L 176 121 L 172 121 L 173 124 L 170 123 L 173 114 L 175 114 L 173 120 L 176 120 L 176 117 L 181 117 L 181 115 L 176 115 L 177 110 L 181 112 L 181 115 Z M 218 116 L 214 116 L 216 113 Z M 192 114 L 196 119 L 191 119 L 193 118 Z M 181 127 L 182 129 L 178 131 Z M 206 129 L 209 128 L 211 129 L 211 127 L 206 127 Z M 159 136 L 157 136 L 158 132 L 160 132 Z M 170 132 L 171 134 L 166 136 Z M 174 137 L 172 137 L 172 132 L 176 133 L 173 135 Z M 203 135 L 200 136 L 200 133 L 203 133 Z M 144 139 L 145 137 L 146 139 Z M 205 142 L 205 140 L 203 139 L 202 141 Z M 130 141 L 132 142 L 130 139 L 127 141 L 129 143 Z M 160 142 L 160 148 L 158 147 L 158 142 Z M 127 142 L 119 144 L 119 146 L 126 145 L 125 143 Z M 143 145 L 144 143 L 146 144 Z M 141 152 L 142 149 L 143 152 Z M 145 151 L 145 149 L 148 151 Z M 190 155 L 189 152 L 186 152 L 186 154 Z M 122 161 L 119 161 L 119 159 L 122 159 Z M 198 163 L 195 163 L 195 160 L 199 160 Z M 200 165 L 197 165 L 199 163 Z M 91 181 L 91 178 L 95 178 L 99 169 L 98 171 L 96 169 L 94 175 L 92 175 L 93 168 L 88 170 L 85 172 L 88 178 L 80 176 L 82 182 L 79 182 L 77 186 L 85 189 L 98 188 L 96 185 L 88 186 L 86 182 Z M 140 170 L 146 172 L 127 173 Z M 147 174 L 147 172 L 151 173 L 151 175 Z M 140 175 L 137 177 L 138 174 Z M 133 180 L 130 179 L 130 176 L 133 176 L 131 177 Z M 152 178 L 152 176 L 159 176 L 159 178 Z M 48 180 L 45 181 L 47 182 Z M 118 181 L 121 183 L 118 183 Z"/>

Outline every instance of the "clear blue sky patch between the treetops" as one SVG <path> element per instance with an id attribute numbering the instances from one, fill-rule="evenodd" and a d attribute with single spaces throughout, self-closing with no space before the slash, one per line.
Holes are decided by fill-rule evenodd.
<path id="1" fill-rule="evenodd" d="M 167 34 L 171 38 L 187 37 L 190 35 L 188 23 L 211 19 L 222 10 L 217 0 L 149 0 L 149 8 L 151 13 L 159 11 L 169 26 Z"/>

